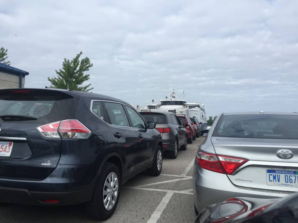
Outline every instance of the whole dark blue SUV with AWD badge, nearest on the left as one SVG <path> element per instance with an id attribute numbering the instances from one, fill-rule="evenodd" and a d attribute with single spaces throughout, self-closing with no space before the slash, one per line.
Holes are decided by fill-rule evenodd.
<path id="1" fill-rule="evenodd" d="M 0 90 L 0 202 L 85 203 L 109 218 L 120 187 L 162 169 L 162 139 L 128 103 L 61 89 Z"/>

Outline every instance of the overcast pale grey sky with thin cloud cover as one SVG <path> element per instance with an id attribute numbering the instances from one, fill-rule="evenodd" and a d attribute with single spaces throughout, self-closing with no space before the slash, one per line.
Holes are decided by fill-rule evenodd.
<path id="1" fill-rule="evenodd" d="M 25 87 L 83 51 L 93 92 L 134 106 L 175 89 L 207 116 L 298 111 L 296 0 L 0 0 L 2 46 Z"/>

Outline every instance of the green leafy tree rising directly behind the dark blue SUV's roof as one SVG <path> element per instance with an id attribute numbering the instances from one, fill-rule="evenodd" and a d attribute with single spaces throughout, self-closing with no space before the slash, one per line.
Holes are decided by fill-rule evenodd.
<path id="1" fill-rule="evenodd" d="M 76 91 L 85 91 L 88 92 L 93 89 L 93 87 L 89 88 L 91 84 L 86 86 L 82 86 L 85 81 L 90 79 L 89 74 L 85 74 L 85 71 L 88 71 L 90 67 L 93 67 L 90 59 L 85 57 L 80 61 L 80 56 L 82 52 L 77 54 L 75 58 L 71 61 L 69 59 L 64 58 L 62 63 L 62 69 L 55 70 L 57 77 L 50 78 L 48 80 L 51 82 L 51 88 L 60 88 L 67 90 L 76 90 Z"/>

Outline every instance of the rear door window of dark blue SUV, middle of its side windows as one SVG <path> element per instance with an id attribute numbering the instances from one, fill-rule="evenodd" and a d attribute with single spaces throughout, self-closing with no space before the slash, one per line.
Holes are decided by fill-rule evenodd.
<path id="1" fill-rule="evenodd" d="M 125 114 L 122 104 L 105 102 L 105 109 L 107 113 L 107 123 L 110 123 L 111 125 L 129 127 L 128 118 Z"/>

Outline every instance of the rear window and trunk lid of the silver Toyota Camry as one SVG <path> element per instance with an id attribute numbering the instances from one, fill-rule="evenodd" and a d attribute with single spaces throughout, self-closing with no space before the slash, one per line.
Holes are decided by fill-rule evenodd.
<path id="1" fill-rule="evenodd" d="M 219 158 L 247 160 L 227 175 L 231 182 L 249 188 L 298 191 L 298 116 L 235 116 L 220 120 L 211 138 Z"/>

